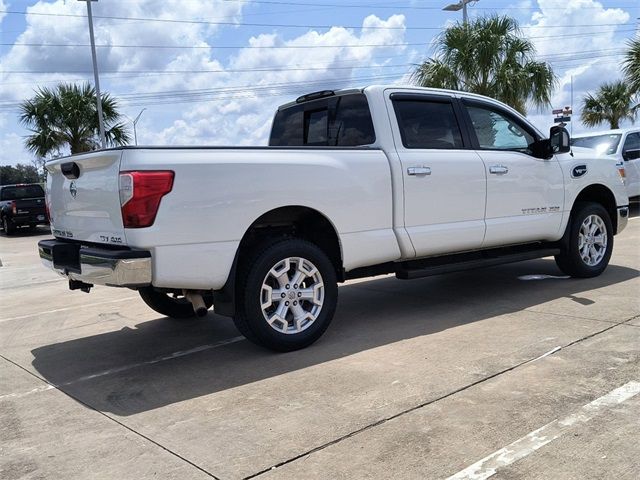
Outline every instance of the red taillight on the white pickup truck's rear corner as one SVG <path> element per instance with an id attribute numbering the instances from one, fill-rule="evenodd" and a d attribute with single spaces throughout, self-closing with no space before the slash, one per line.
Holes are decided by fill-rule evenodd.
<path id="1" fill-rule="evenodd" d="M 120 173 L 120 207 L 125 228 L 153 225 L 160 200 L 173 188 L 173 175 L 170 170 Z"/>

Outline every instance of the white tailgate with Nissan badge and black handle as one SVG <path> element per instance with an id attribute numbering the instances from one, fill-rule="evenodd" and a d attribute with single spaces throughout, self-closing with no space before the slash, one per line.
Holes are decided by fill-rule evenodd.
<path id="1" fill-rule="evenodd" d="M 120 211 L 121 150 L 48 162 L 47 201 L 56 237 L 126 245 Z"/>

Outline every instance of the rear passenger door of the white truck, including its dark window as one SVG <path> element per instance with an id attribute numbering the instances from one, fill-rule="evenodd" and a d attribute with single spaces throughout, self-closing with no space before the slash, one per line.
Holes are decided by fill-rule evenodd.
<path id="1" fill-rule="evenodd" d="M 418 257 L 482 245 L 485 168 L 450 95 L 392 93 L 402 164 L 404 223 Z"/>

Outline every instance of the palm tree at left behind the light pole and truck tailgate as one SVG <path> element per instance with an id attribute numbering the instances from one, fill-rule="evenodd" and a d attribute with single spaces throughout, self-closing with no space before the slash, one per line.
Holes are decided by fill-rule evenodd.
<path id="1" fill-rule="evenodd" d="M 130 137 L 124 123 L 119 123 L 117 102 L 108 93 L 101 97 L 107 143 L 126 145 Z M 59 155 L 67 146 L 72 154 L 100 148 L 96 103 L 96 92 L 88 83 L 39 88 L 20 104 L 20 122 L 33 132 L 25 147 L 39 157 Z"/>

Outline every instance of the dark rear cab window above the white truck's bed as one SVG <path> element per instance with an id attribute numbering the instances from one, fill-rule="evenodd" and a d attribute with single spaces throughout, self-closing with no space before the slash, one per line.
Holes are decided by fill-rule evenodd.
<path id="1" fill-rule="evenodd" d="M 375 139 L 367 97 L 358 93 L 278 111 L 269 145 L 357 147 L 370 145 Z"/>

